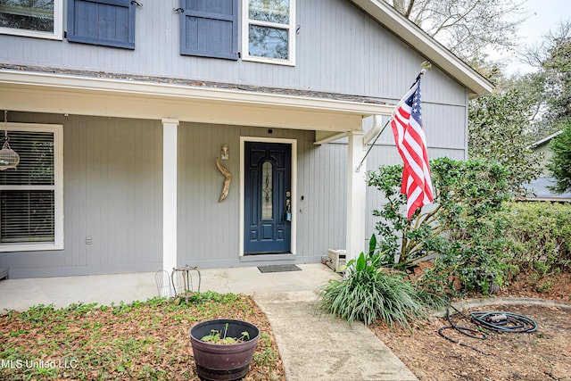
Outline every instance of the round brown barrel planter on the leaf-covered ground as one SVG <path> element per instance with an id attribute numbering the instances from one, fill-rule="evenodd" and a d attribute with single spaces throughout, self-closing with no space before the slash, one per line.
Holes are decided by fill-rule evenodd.
<path id="1" fill-rule="evenodd" d="M 211 344 L 200 339 L 212 330 L 225 332 L 227 337 L 240 337 L 247 331 L 250 339 L 237 344 Z M 253 352 L 260 338 L 260 329 L 251 323 L 233 319 L 207 320 L 190 328 L 194 361 L 198 376 L 205 380 L 237 380 L 250 371 Z"/>

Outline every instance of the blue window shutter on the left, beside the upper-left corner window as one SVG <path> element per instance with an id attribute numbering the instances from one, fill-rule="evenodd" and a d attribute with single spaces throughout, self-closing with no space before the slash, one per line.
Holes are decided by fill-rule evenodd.
<path id="1" fill-rule="evenodd" d="M 67 39 L 135 49 L 135 9 L 130 0 L 68 0 Z"/>

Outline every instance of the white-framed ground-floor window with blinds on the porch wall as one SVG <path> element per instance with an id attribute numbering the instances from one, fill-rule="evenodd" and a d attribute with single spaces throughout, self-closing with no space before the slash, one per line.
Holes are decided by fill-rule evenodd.
<path id="1" fill-rule="evenodd" d="M 62 248 L 61 133 L 61 126 L 9 124 L 20 163 L 0 171 L 0 251 Z"/>

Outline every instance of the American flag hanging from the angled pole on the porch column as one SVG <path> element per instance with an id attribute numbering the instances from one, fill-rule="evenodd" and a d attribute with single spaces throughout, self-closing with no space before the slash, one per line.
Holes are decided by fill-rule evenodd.
<path id="1" fill-rule="evenodd" d="M 404 162 L 401 193 L 407 195 L 407 218 L 410 219 L 418 208 L 434 200 L 422 127 L 420 75 L 396 105 L 391 127 L 394 142 Z"/>

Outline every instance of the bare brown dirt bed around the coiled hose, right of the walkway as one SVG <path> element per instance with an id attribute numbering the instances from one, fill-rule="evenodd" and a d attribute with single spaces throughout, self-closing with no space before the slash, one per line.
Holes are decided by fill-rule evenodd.
<path id="1" fill-rule="evenodd" d="M 533 333 L 489 332 L 485 340 L 444 331 L 474 349 L 453 344 L 438 334 L 441 327 L 450 325 L 447 319 L 434 318 L 415 327 L 412 333 L 383 325 L 369 328 L 421 381 L 571 380 L 571 274 L 540 281 L 522 276 L 501 289 L 498 296 L 541 298 L 564 302 L 569 307 L 521 304 L 472 309 L 521 314 L 538 326 Z M 468 315 L 468 311 L 464 312 Z M 452 317 L 452 321 L 476 328 L 459 315 Z"/>

